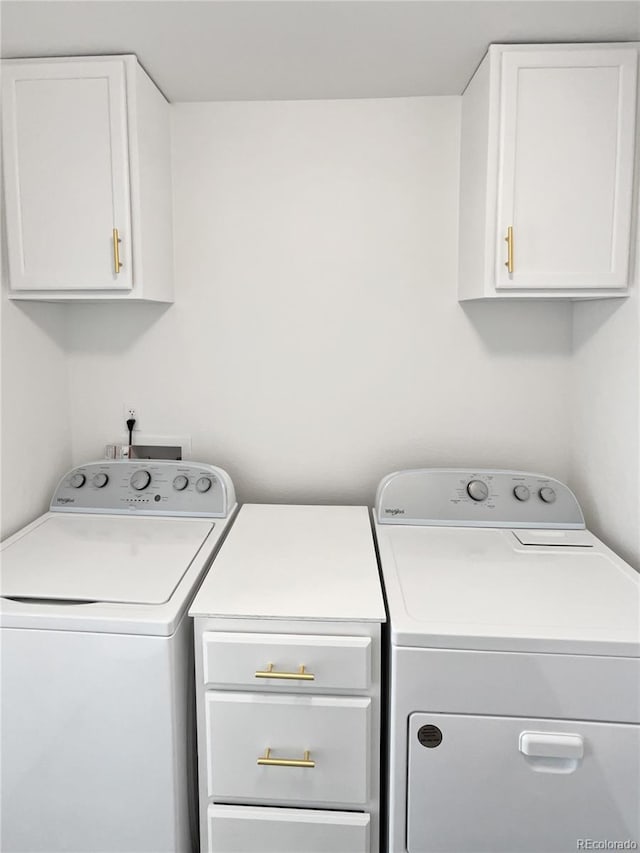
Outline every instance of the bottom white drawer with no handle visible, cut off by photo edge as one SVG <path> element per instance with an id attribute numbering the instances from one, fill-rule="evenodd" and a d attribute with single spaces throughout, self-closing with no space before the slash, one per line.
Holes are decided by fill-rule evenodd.
<path id="1" fill-rule="evenodd" d="M 209 853 L 369 853 L 369 815 L 209 806 Z"/>

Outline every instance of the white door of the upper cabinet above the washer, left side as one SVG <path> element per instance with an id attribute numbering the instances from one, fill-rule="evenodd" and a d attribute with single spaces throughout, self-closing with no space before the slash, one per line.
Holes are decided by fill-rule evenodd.
<path id="1" fill-rule="evenodd" d="M 11 287 L 130 289 L 124 63 L 7 63 L 2 89 Z"/>

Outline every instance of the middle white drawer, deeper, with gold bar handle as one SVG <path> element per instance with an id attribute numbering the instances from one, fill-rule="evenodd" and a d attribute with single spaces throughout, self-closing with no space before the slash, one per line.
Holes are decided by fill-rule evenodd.
<path id="1" fill-rule="evenodd" d="M 371 699 L 212 691 L 205 714 L 210 797 L 367 802 Z M 269 763 L 305 760 L 308 766 Z"/>

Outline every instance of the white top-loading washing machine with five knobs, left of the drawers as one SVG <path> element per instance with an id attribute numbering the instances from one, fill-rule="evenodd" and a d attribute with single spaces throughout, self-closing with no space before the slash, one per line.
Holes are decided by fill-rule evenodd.
<path id="1" fill-rule="evenodd" d="M 196 849 L 187 609 L 235 511 L 220 468 L 103 461 L 3 543 L 5 853 Z"/>

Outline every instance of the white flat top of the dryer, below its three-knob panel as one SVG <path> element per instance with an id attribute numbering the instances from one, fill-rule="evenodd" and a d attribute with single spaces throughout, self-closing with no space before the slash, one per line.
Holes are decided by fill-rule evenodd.
<path id="1" fill-rule="evenodd" d="M 376 532 L 396 645 L 640 654 L 640 578 L 587 531 Z"/>

